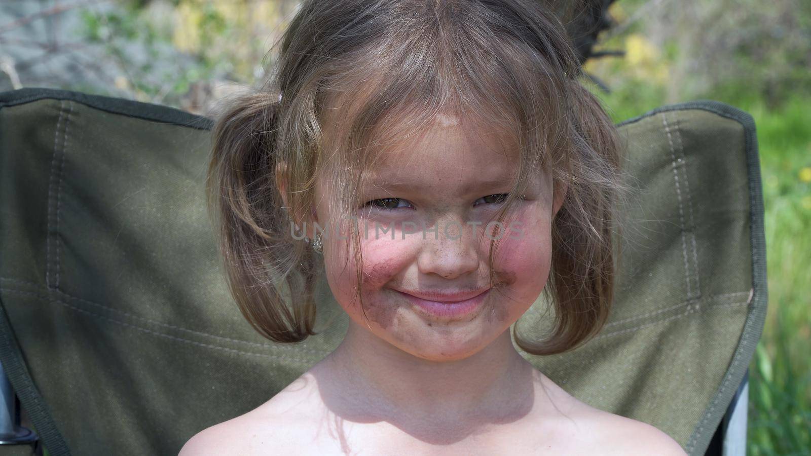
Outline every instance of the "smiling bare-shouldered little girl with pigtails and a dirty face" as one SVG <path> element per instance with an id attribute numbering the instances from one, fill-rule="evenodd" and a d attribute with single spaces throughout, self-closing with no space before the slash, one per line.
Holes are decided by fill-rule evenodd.
<path id="1" fill-rule="evenodd" d="M 513 346 L 571 350 L 611 308 L 620 142 L 580 71 L 540 1 L 304 1 L 217 119 L 209 203 L 256 330 L 315 334 L 322 273 L 349 329 L 181 454 L 684 454 Z"/>

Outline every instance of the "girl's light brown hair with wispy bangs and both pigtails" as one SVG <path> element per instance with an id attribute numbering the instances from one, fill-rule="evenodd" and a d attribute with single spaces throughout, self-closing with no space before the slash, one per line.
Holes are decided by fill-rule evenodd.
<path id="1" fill-rule="evenodd" d="M 517 345 L 551 355 L 599 332 L 614 287 L 620 144 L 599 101 L 578 82 L 577 55 L 548 4 L 307 0 L 268 74 L 217 116 L 207 182 L 230 291 L 265 338 L 298 342 L 315 334 L 314 288 L 324 264 L 294 239 L 290 222 L 306 221 L 316 179 L 337 195 L 334 210 L 349 216 L 381 145 L 414 135 L 440 113 L 474 118 L 514 139 L 517 180 L 499 221 L 538 170 L 568 189 L 552 223 L 543 290 L 554 329 L 530 342 L 513 328 Z M 346 127 L 326 142 L 334 105 L 345 105 Z M 277 187 L 279 163 L 288 207 Z M 358 234 L 351 240 L 362 265 Z M 491 242 L 491 266 L 494 249 Z"/>

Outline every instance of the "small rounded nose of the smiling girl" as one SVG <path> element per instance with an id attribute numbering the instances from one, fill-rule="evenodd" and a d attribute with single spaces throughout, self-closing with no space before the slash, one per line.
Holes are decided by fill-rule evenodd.
<path id="1" fill-rule="evenodd" d="M 423 248 L 417 260 L 419 272 L 453 279 L 478 269 L 479 236 L 474 236 L 473 231 L 474 226 L 461 217 L 437 220 L 425 231 L 425 239 L 420 239 Z"/>

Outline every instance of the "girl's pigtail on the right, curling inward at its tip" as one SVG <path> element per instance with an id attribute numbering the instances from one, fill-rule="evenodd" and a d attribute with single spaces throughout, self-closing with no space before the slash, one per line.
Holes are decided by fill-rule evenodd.
<path id="1" fill-rule="evenodd" d="M 552 222 L 547 295 L 555 311 L 551 336 L 517 345 L 534 355 L 569 351 L 605 325 L 614 294 L 617 202 L 624 195 L 618 132 L 594 95 L 571 81 L 570 118 L 574 149 L 556 187 L 566 182 L 564 203 Z"/>

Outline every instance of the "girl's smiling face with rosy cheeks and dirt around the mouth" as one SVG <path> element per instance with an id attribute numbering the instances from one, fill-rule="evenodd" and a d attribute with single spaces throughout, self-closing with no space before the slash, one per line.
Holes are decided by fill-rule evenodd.
<path id="1" fill-rule="evenodd" d="M 333 218 L 316 184 L 328 283 L 359 329 L 423 359 L 462 359 L 530 308 L 547 282 L 551 221 L 562 198 L 553 201 L 549 175 L 538 174 L 513 217 L 486 230 L 516 166 L 517 151 L 504 150 L 496 134 L 440 115 L 364 175 L 357 222 Z M 349 229 L 360 237 L 359 282 Z M 491 286 L 487 255 L 498 238 Z M 358 287 L 368 320 L 354 299 Z"/>

